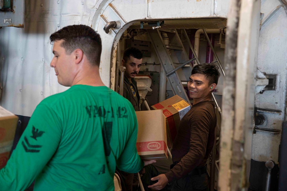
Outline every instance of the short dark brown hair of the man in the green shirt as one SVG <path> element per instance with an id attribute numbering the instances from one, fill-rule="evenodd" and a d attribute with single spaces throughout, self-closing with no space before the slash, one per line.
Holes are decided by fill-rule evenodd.
<path id="1" fill-rule="evenodd" d="M 70 25 L 50 36 L 51 43 L 64 40 L 61 44 L 67 54 L 79 48 L 92 65 L 100 66 L 102 41 L 100 35 L 86 25 Z"/>

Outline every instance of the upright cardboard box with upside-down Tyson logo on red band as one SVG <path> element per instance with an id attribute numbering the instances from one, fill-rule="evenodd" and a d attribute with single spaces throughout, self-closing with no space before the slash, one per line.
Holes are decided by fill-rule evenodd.
<path id="1" fill-rule="evenodd" d="M 137 153 L 143 160 L 167 159 L 166 124 L 160 110 L 136 111 Z"/>

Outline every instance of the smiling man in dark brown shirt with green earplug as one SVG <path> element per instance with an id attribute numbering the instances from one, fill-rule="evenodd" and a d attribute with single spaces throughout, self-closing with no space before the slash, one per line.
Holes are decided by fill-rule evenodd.
<path id="1" fill-rule="evenodd" d="M 206 161 L 214 144 L 216 114 L 211 101 L 220 73 L 214 64 L 201 64 L 193 68 L 189 82 L 189 96 L 193 106 L 183 117 L 173 143 L 172 169 L 151 180 L 149 186 L 161 190 L 173 182 L 172 190 L 208 190 Z"/>

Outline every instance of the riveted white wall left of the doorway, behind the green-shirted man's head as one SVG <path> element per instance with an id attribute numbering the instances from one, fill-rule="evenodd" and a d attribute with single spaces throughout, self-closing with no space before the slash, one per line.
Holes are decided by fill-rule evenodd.
<path id="1" fill-rule="evenodd" d="M 31 116 L 45 97 L 67 87 L 50 68 L 50 35 L 67 25 L 91 25 L 96 0 L 25 1 L 24 28 L 0 29 L 1 106 Z M 1 16 L 0 16 L 1 17 Z"/>

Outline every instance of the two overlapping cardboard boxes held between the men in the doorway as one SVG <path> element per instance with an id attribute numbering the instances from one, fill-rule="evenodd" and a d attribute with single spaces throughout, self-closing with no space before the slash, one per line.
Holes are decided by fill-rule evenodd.
<path id="1" fill-rule="evenodd" d="M 137 111 L 137 151 L 144 160 L 167 158 L 167 146 L 177 135 L 179 123 L 191 105 L 179 96 L 173 96 L 152 106 L 151 111 Z"/>

